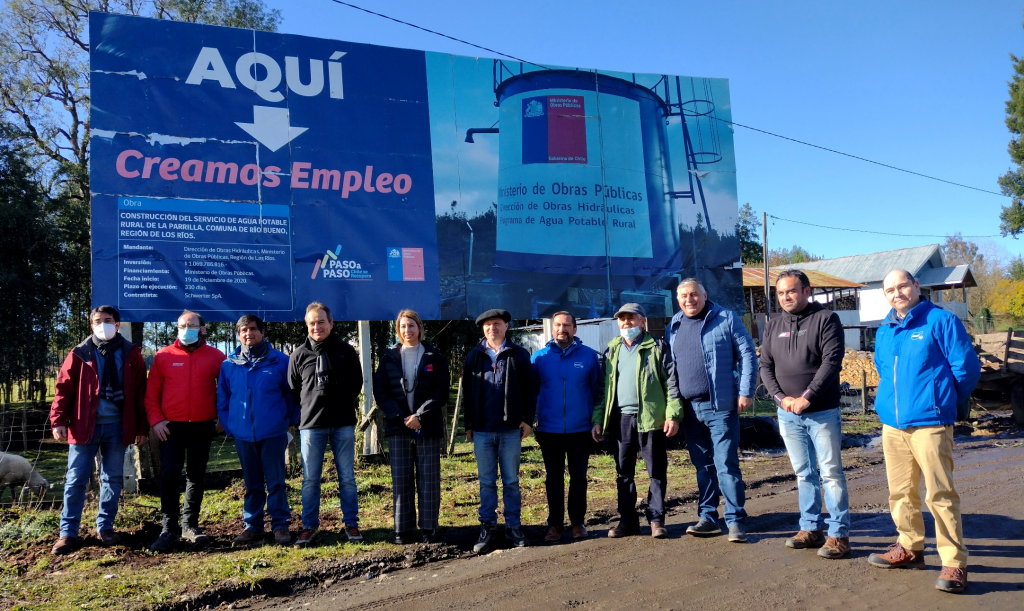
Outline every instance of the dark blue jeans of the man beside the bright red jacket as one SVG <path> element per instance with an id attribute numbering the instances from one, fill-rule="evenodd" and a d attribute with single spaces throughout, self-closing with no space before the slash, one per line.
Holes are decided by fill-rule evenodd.
<path id="1" fill-rule="evenodd" d="M 288 483 L 285 482 L 285 448 L 288 435 L 278 435 L 259 441 L 234 440 L 234 449 L 242 463 L 242 478 L 246 496 L 242 503 L 242 520 L 246 530 L 263 532 L 263 505 L 270 514 L 270 529 L 288 528 L 292 510 L 288 507 Z"/>

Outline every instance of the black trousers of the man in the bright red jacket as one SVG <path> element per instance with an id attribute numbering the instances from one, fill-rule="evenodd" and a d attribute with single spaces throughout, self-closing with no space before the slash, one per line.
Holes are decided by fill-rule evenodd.
<path id="1" fill-rule="evenodd" d="M 205 490 L 203 480 L 216 429 L 212 420 L 170 422 L 167 428 L 170 434 L 160 444 L 160 511 L 164 514 L 164 530 L 176 531 L 179 519 L 182 524 L 199 526 L 199 510 Z M 185 470 L 183 515 L 178 508 L 182 469 Z"/>

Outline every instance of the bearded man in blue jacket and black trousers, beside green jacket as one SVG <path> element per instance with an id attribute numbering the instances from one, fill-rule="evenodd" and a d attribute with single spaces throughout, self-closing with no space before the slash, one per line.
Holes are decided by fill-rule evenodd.
<path id="1" fill-rule="evenodd" d="M 544 487 L 548 493 L 547 542 L 562 537 L 565 528 L 565 462 L 569 466 L 569 524 L 572 538 L 587 538 L 587 466 L 594 441 L 591 418 L 604 397 L 601 357 L 575 337 L 575 316 L 551 316 L 554 339 L 534 353 L 531 361 L 540 382 L 537 397 L 537 442 L 541 444 Z"/>

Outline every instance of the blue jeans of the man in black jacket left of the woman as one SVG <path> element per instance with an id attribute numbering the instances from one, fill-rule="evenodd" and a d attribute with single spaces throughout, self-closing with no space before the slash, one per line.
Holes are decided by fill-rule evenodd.
<path id="1" fill-rule="evenodd" d="M 359 496 L 355 489 L 355 427 L 303 429 L 302 528 L 319 528 L 319 484 L 328 441 L 338 468 L 338 497 L 345 527 L 359 525 Z"/>

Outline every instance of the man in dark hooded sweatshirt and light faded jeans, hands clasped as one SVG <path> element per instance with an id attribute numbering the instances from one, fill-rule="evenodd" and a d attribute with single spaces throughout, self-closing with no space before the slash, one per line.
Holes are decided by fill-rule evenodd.
<path id="1" fill-rule="evenodd" d="M 795 550 L 820 548 L 822 558 L 842 558 L 850 553 L 839 402 L 843 324 L 836 312 L 810 301 L 811 282 L 804 272 L 781 272 L 775 291 L 784 312 L 765 325 L 761 380 L 778 405 L 779 433 L 797 474 L 800 532 L 785 544 Z M 827 519 L 821 513 L 822 487 Z M 827 539 L 821 532 L 825 524 Z"/>

